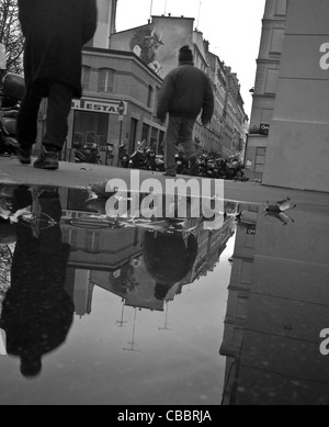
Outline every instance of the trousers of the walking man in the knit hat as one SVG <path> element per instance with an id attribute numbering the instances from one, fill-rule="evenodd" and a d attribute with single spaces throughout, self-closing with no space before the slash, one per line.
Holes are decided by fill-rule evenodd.
<path id="1" fill-rule="evenodd" d="M 169 116 L 169 124 L 164 138 L 164 161 L 166 171 L 175 173 L 175 147 L 182 145 L 184 153 L 189 158 L 197 155 L 193 144 L 193 128 L 195 120 L 185 116 Z"/>

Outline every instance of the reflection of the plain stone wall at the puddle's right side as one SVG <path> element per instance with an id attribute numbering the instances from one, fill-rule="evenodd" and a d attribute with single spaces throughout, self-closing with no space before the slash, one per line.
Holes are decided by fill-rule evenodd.
<path id="1" fill-rule="evenodd" d="M 251 209 L 238 225 L 225 333 L 225 405 L 328 404 L 328 212 L 283 227 Z"/>

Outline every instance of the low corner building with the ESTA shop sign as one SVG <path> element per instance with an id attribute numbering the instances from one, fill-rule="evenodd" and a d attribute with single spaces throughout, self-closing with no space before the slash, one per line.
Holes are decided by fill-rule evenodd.
<path id="1" fill-rule="evenodd" d="M 75 149 L 92 144 L 100 147 L 102 162 L 110 166 L 117 165 L 121 145 L 132 154 L 145 139 L 160 150 L 166 128 L 154 120 L 154 111 L 161 85 L 162 79 L 134 53 L 84 47 L 83 94 L 72 101 L 63 159 L 72 161 Z M 38 149 L 45 117 L 46 103 L 39 114 Z"/>

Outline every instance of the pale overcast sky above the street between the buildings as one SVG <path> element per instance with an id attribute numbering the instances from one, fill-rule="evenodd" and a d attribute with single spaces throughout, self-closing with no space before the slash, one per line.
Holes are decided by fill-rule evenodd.
<path id="1" fill-rule="evenodd" d="M 238 74 L 245 110 L 250 117 L 256 59 L 259 54 L 265 0 L 118 0 L 116 30 L 144 25 L 152 14 L 195 18 L 209 49 Z M 198 24 L 197 24 L 198 22 Z"/>

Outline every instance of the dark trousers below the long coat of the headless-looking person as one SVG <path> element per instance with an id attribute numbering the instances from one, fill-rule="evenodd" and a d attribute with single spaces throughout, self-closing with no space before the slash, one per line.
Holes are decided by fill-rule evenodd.
<path id="1" fill-rule="evenodd" d="M 18 121 L 18 137 L 21 147 L 31 148 L 35 144 L 37 135 L 38 110 L 47 91 L 48 106 L 46 120 L 46 134 L 43 144 L 63 149 L 68 133 L 68 115 L 71 110 L 73 98 L 72 89 L 60 82 L 45 83 L 36 81 L 26 88 L 25 97 L 22 101 Z"/>

